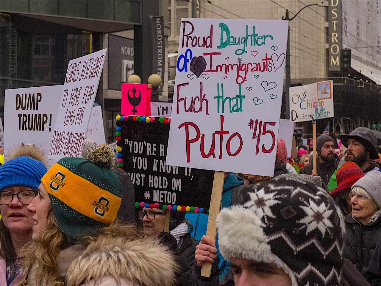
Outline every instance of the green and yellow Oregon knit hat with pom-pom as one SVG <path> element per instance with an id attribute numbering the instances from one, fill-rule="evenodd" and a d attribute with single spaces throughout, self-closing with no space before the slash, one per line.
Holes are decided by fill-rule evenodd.
<path id="1" fill-rule="evenodd" d="M 113 164 L 112 149 L 102 144 L 88 159 L 62 158 L 42 177 L 58 226 L 70 240 L 97 235 L 114 222 L 122 185 Z"/>

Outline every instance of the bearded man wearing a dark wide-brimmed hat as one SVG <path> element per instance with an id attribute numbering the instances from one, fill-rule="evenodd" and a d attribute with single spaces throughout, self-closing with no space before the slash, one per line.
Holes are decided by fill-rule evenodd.
<path id="1" fill-rule="evenodd" d="M 380 171 L 375 161 L 378 159 L 377 138 L 367 127 L 357 127 L 349 135 L 340 136 L 341 143 L 348 148 L 346 162 L 355 162 L 366 175 L 370 171 Z"/>

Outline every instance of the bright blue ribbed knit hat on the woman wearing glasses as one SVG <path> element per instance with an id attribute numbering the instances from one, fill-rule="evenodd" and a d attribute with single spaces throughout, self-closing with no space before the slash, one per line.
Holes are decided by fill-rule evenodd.
<path id="1" fill-rule="evenodd" d="M 16 157 L 0 167 L 0 190 L 10 186 L 27 186 L 37 189 L 48 171 L 45 165 L 28 156 Z"/>

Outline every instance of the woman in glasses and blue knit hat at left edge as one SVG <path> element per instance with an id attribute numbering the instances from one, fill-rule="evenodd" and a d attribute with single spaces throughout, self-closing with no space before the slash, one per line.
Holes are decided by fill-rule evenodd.
<path id="1" fill-rule="evenodd" d="M 27 207 L 46 171 L 41 161 L 28 156 L 16 157 L 0 167 L 0 285 L 18 286 L 24 281 L 16 260 L 32 238 L 33 213 Z"/>

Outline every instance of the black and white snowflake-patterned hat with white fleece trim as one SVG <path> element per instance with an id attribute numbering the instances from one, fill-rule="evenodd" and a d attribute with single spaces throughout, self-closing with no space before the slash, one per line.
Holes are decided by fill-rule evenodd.
<path id="1" fill-rule="evenodd" d="M 278 265 L 292 286 L 338 286 L 344 218 L 325 190 L 274 178 L 242 190 L 239 205 L 219 213 L 221 254 Z"/>

